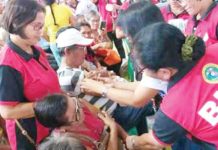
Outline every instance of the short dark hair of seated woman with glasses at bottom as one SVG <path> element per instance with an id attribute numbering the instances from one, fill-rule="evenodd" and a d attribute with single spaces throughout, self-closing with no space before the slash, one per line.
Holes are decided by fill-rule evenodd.
<path id="1" fill-rule="evenodd" d="M 45 127 L 58 128 L 66 125 L 67 97 L 63 94 L 54 94 L 44 97 L 34 105 L 36 119 Z"/>

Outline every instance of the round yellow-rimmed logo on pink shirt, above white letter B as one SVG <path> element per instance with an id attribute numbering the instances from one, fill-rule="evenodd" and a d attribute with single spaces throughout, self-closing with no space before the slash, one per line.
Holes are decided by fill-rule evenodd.
<path id="1" fill-rule="evenodd" d="M 218 65 L 206 64 L 203 67 L 202 75 L 207 83 L 211 83 L 211 84 L 218 83 Z"/>

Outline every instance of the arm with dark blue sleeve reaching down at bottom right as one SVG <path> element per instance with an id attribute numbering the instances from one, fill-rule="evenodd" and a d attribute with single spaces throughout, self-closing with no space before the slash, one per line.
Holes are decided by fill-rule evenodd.
<path id="1" fill-rule="evenodd" d="M 128 136 L 126 143 L 129 149 L 159 150 L 173 144 L 186 134 L 187 131 L 182 126 L 170 119 L 159 109 L 155 115 L 152 132 L 141 136 Z"/>

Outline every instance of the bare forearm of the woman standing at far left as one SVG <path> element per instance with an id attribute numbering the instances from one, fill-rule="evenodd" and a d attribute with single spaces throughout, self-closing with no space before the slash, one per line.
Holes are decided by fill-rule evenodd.
<path id="1" fill-rule="evenodd" d="M 4 119 L 21 119 L 34 117 L 33 103 L 20 103 L 15 106 L 0 106 L 0 114 Z"/>

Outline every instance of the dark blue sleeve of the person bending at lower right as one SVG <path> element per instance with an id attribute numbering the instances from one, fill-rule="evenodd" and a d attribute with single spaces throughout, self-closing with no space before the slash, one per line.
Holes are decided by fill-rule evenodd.
<path id="1" fill-rule="evenodd" d="M 160 144 L 172 144 L 179 138 L 184 137 L 186 133 L 184 128 L 168 118 L 161 109 L 158 110 L 155 116 L 153 135 Z"/>

